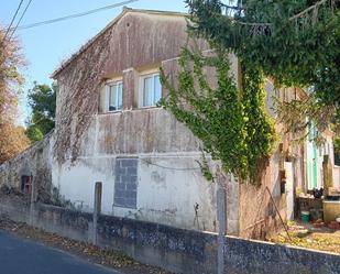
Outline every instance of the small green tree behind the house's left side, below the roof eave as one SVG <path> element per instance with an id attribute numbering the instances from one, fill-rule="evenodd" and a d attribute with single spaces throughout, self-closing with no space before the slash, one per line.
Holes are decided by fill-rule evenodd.
<path id="1" fill-rule="evenodd" d="M 55 86 L 34 83 L 29 90 L 29 103 L 32 114 L 28 122 L 26 135 L 32 142 L 41 141 L 55 124 Z"/>

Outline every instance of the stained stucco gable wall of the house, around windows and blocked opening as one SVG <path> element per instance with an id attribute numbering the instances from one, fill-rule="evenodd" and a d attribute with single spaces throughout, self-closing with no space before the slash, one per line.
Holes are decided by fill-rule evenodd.
<path id="1" fill-rule="evenodd" d="M 124 12 L 55 75 L 53 185 L 76 207 L 92 209 L 100 180 L 105 213 L 217 230 L 215 185 L 201 176 L 199 142 L 163 109 L 136 109 L 143 72 L 163 66 L 174 76 L 186 24 L 175 13 Z M 124 111 L 102 113 L 103 84 L 112 77 L 123 80 Z M 117 157 L 138 157 L 136 208 L 113 206 Z"/>

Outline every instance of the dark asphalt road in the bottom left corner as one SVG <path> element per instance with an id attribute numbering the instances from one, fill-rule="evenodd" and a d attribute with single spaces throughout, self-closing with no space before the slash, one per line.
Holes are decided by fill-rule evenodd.
<path id="1" fill-rule="evenodd" d="M 0 274 L 121 274 L 0 231 Z"/>

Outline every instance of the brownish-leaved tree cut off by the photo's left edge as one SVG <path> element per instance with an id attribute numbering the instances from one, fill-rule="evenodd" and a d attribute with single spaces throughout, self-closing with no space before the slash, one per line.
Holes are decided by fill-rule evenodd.
<path id="1" fill-rule="evenodd" d="M 4 39 L 4 30 L 0 26 L 0 164 L 29 144 L 24 130 L 15 125 L 23 84 L 19 69 L 23 64 L 17 41 Z"/>

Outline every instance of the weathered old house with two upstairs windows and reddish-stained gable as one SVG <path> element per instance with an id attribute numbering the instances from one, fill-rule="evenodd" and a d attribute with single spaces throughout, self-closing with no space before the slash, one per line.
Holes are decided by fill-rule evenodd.
<path id="1" fill-rule="evenodd" d="M 22 185 L 34 182 L 37 198 L 50 195 L 91 211 L 95 183 L 102 182 L 102 213 L 217 231 L 216 186 L 201 175 L 199 141 L 156 107 L 166 96 L 160 67 L 175 80 L 186 28 L 182 13 L 125 8 L 53 74 L 58 86 L 55 130 L 4 163 L 0 184 L 24 191 Z M 208 50 L 204 42 L 199 46 Z M 238 62 L 231 62 L 238 78 Z M 293 89 L 277 94 L 270 81 L 266 89 L 268 110 L 272 96 L 296 96 Z M 261 186 L 228 185 L 229 233 L 260 238 L 281 226 L 266 188 L 281 215 L 292 216 L 294 187 L 307 184 L 306 156 L 297 150 L 294 161 L 283 157 L 287 140 L 271 158 Z M 282 191 L 283 168 L 289 176 Z"/>

